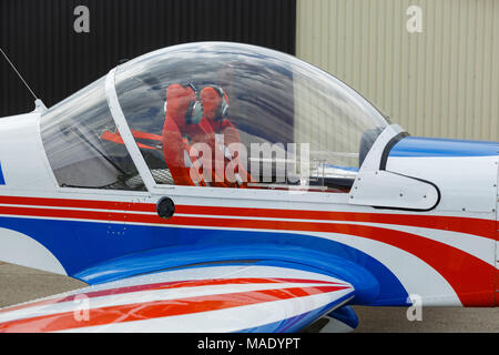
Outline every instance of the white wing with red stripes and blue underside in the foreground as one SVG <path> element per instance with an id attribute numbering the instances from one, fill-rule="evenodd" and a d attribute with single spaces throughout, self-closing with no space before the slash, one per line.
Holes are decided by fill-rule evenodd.
<path id="1" fill-rule="evenodd" d="M 0 310 L 0 332 L 297 332 L 353 296 L 345 281 L 287 265 L 189 267 Z"/>

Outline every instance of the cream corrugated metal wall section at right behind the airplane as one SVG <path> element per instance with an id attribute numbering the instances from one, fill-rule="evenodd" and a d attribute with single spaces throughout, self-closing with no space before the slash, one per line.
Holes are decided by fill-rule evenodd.
<path id="1" fill-rule="evenodd" d="M 298 0 L 296 52 L 413 135 L 499 141 L 499 0 Z"/>

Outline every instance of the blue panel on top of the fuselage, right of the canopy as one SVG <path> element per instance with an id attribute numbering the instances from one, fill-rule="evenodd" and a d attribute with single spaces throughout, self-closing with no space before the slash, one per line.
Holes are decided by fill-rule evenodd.
<path id="1" fill-rule="evenodd" d="M 459 141 L 407 136 L 391 149 L 389 156 L 490 156 L 499 155 L 499 142 Z"/>

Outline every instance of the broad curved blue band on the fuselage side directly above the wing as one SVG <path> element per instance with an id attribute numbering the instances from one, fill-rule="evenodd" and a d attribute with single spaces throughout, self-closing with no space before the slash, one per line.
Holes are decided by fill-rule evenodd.
<path id="1" fill-rule="evenodd" d="M 0 217 L 0 227 L 33 237 L 59 260 L 68 275 L 90 284 L 195 263 L 263 260 L 266 261 L 265 264 L 288 262 L 324 270 L 352 283 L 356 287 L 358 302 L 367 300 L 371 290 L 377 288 L 379 296 L 373 304 L 407 304 L 407 292 L 385 265 L 366 253 L 330 240 L 278 231 L 130 224 L 124 233 L 110 232 L 123 225 Z M 345 264 L 355 267 L 342 267 Z M 353 268 L 368 271 L 367 276 L 355 273 Z M 369 282 L 373 276 L 375 282 L 377 281 L 376 285 L 364 282 Z M 366 297 L 361 296 L 363 290 Z"/>

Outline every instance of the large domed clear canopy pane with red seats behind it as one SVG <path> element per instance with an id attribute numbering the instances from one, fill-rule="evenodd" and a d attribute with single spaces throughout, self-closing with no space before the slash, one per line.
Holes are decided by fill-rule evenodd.
<path id="1" fill-rule="evenodd" d="M 115 88 L 159 184 L 285 189 L 308 174 L 348 191 L 388 125 L 330 74 L 247 44 L 159 50 L 120 65 Z"/>

